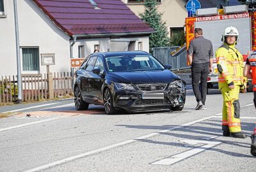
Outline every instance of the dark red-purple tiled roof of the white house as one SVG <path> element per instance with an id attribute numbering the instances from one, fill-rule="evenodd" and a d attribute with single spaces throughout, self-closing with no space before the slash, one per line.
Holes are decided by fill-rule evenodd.
<path id="1" fill-rule="evenodd" d="M 121 0 L 33 0 L 69 36 L 154 31 Z"/>

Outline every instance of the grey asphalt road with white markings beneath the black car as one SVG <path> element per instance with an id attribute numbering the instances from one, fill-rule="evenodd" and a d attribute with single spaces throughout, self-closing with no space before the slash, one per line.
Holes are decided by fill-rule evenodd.
<path id="1" fill-rule="evenodd" d="M 240 94 L 246 139 L 223 137 L 222 97 L 195 111 L 191 90 L 182 111 L 106 115 L 76 111 L 73 100 L 0 107 L 0 171 L 255 171 L 250 134 L 253 94 Z"/>

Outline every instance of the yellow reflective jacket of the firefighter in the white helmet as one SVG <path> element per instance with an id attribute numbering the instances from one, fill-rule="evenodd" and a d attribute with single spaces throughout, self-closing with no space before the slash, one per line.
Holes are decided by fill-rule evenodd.
<path id="1" fill-rule="evenodd" d="M 245 85 L 243 76 L 243 56 L 234 45 L 223 43 L 216 51 L 217 68 L 219 71 L 219 89 L 229 85 Z"/>

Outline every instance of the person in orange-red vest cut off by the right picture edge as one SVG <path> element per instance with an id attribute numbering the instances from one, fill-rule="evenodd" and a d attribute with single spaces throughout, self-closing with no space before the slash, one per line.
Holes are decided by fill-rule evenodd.
<path id="1" fill-rule="evenodd" d="M 251 72 L 252 71 L 252 72 Z M 253 85 L 253 102 L 256 108 L 256 51 L 250 52 L 248 58 L 246 59 L 246 64 L 244 66 L 244 76 L 252 79 Z M 251 154 L 256 156 L 256 125 L 253 130 L 252 145 L 251 145 Z"/>

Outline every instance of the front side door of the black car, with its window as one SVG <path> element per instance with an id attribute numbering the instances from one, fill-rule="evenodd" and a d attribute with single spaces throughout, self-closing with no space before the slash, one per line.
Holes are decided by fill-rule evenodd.
<path id="1" fill-rule="evenodd" d="M 104 83 L 104 65 L 102 61 L 102 57 L 97 57 L 97 61 L 95 62 L 95 66 L 93 69 L 100 69 L 99 73 L 91 73 L 92 78 L 89 83 L 89 97 L 94 104 L 102 104 L 102 84 Z"/>

